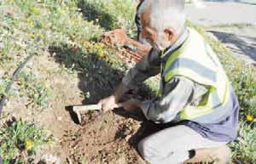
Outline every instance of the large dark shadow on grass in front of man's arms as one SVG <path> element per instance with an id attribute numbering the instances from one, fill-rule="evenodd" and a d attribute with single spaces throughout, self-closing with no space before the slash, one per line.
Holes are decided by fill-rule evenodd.
<path id="1" fill-rule="evenodd" d="M 79 48 L 74 50 L 67 47 L 49 47 L 49 52 L 55 54 L 56 62 L 78 72 L 79 88 L 85 98 L 83 104 L 96 104 L 111 95 L 124 72 L 114 69 L 104 59 L 97 59 L 95 54 L 83 54 Z"/>

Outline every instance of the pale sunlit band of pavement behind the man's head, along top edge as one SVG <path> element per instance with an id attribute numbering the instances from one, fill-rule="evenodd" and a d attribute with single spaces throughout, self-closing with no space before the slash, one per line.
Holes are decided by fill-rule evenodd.
<path id="1" fill-rule="evenodd" d="M 256 23 L 256 5 L 229 2 L 205 2 L 205 5 L 206 8 L 195 8 L 188 4 L 186 9 L 189 20 L 202 25 Z"/>

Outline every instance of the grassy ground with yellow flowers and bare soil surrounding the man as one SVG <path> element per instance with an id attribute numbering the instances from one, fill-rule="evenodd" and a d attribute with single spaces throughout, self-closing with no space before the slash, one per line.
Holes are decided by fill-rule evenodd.
<path id="1" fill-rule="evenodd" d="M 102 163 L 106 159 L 109 163 L 140 163 L 131 147 L 119 142 L 136 131 L 136 122 L 113 114 L 96 117 L 99 114 L 92 113 L 89 114 L 89 123 L 80 128 L 71 123 L 67 110 L 63 110 L 67 105 L 81 102 L 96 103 L 118 85 L 128 65 L 119 62 L 114 49 L 97 40 L 103 31 L 114 28 L 123 28 L 130 37 L 135 37 L 135 8 L 136 3 L 132 0 L 0 2 L 0 96 L 5 94 L 6 84 L 20 62 L 29 54 L 36 54 L 15 82 L 1 116 L 3 135 L 0 152 L 4 163 L 40 161 L 44 154 L 42 149 L 49 146 L 50 140 L 41 126 L 53 134 L 55 146 L 49 150 L 61 154 L 63 163 L 68 160 Z M 256 117 L 256 69 L 234 59 L 221 42 L 209 37 L 201 27 L 194 27 L 219 54 L 240 100 L 241 137 L 230 144 L 234 159 L 253 163 L 256 161 L 256 128 L 253 123 Z M 6 124 L 13 116 L 18 121 Z M 25 121 L 19 120 L 20 117 Z M 108 129 L 108 135 L 103 129 Z M 100 138 L 101 135 L 108 136 L 109 140 Z M 117 141 L 106 147 L 95 145 L 94 140 L 84 139 L 89 136 L 92 140 L 93 136 L 98 137 L 100 141 L 97 142 L 100 143 L 111 143 L 111 139 Z M 79 139 L 80 143 L 87 145 L 87 149 L 70 148 L 71 145 L 78 145 L 76 142 Z M 79 144 L 80 147 L 84 147 L 83 144 Z M 116 146 L 123 150 L 116 150 Z M 93 155 L 92 150 L 99 152 Z M 113 150 L 119 152 L 118 160 Z M 36 152 L 38 156 L 35 156 Z"/>

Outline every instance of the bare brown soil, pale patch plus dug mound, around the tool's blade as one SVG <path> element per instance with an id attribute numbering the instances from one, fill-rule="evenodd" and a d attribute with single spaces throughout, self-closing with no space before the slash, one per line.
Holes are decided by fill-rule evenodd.
<path id="1" fill-rule="evenodd" d="M 142 113 L 128 114 L 121 109 L 106 113 L 93 111 L 85 113 L 79 125 L 69 107 L 84 103 L 79 76 L 65 71 L 56 73 L 61 71 L 61 65 L 48 53 L 35 56 L 26 70 L 40 72 L 45 85 L 54 93 L 54 99 L 46 109 L 36 110 L 27 108 L 29 102 L 26 98 L 11 98 L 5 108 L 10 113 L 6 119 L 21 117 L 45 127 L 54 135 L 55 143 L 40 150 L 38 160 L 51 156 L 55 159 L 48 159 L 52 163 L 146 163 L 136 150 L 138 141 L 146 132 L 142 126 Z"/>

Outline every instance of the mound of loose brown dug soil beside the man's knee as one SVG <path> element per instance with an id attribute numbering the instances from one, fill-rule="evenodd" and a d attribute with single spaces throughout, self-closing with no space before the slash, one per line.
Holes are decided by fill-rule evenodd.
<path id="1" fill-rule="evenodd" d="M 61 146 L 68 150 L 69 163 L 145 164 L 135 146 L 141 123 L 114 112 L 85 114 L 79 130 L 68 130 Z"/>

